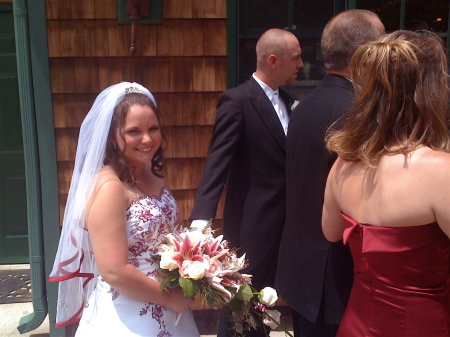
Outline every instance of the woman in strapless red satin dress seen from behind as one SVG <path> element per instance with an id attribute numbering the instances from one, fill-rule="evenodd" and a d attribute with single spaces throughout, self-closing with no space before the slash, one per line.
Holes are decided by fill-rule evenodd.
<path id="1" fill-rule="evenodd" d="M 354 283 L 340 337 L 450 336 L 447 60 L 429 32 L 397 31 L 358 49 L 356 99 L 327 146 L 339 155 L 322 228 L 344 240 Z"/>

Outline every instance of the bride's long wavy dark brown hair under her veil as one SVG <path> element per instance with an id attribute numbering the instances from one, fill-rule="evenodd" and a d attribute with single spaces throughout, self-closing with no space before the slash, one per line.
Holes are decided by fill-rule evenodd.
<path id="1" fill-rule="evenodd" d="M 165 148 L 166 138 L 164 136 L 164 117 L 161 111 L 153 104 L 152 100 L 148 98 L 145 94 L 140 93 L 129 93 L 124 96 L 122 101 L 114 109 L 114 114 L 111 120 L 111 126 L 109 128 L 108 142 L 106 144 L 106 155 L 104 163 L 115 164 L 119 169 L 119 179 L 121 181 L 127 182 L 129 184 L 135 184 L 136 179 L 134 177 L 134 167 L 129 166 L 125 162 L 125 157 L 123 155 L 124 151 L 120 151 L 117 146 L 114 145 L 112 139 L 114 139 L 117 130 L 120 130 L 119 135 L 125 141 L 123 135 L 123 125 L 125 119 L 130 111 L 130 107 L 133 105 L 141 105 L 150 107 L 156 114 L 158 123 L 160 125 L 161 135 L 163 137 L 163 142 L 159 149 L 155 152 L 152 158 L 152 172 L 157 177 L 164 177 L 163 175 L 163 152 Z M 125 150 L 125 149 L 124 149 Z"/>

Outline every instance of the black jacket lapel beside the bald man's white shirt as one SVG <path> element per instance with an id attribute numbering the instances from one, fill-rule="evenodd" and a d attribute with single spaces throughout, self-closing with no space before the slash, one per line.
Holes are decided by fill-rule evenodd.
<path id="1" fill-rule="evenodd" d="M 286 135 L 284 134 L 283 127 L 281 126 L 272 103 L 267 98 L 267 95 L 261 86 L 253 78 L 247 83 L 250 86 L 250 92 L 253 93 L 250 95 L 250 103 L 261 117 L 262 122 L 265 124 L 275 141 L 280 145 L 283 151 L 286 151 Z"/>

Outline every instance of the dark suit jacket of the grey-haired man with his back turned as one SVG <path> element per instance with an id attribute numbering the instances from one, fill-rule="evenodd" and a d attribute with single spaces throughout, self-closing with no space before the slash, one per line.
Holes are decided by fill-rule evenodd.
<path id="1" fill-rule="evenodd" d="M 336 156 L 325 134 L 353 101 L 352 84 L 327 74 L 293 111 L 286 150 L 286 223 L 280 244 L 276 289 L 291 308 L 315 323 L 325 293 L 327 324 L 339 324 L 353 280 L 353 264 L 342 241 L 322 233 L 322 206 L 328 172 Z"/>

